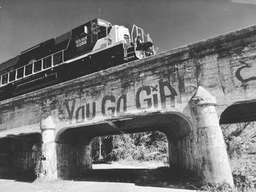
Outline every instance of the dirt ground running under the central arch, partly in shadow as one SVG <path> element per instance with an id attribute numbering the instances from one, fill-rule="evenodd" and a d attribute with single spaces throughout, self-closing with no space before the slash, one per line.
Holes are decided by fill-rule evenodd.
<path id="1" fill-rule="evenodd" d="M 175 170 L 156 164 L 94 164 L 93 170 L 70 180 L 41 183 L 23 175 L 0 177 L 1 192 L 121 192 L 121 191 L 195 191 L 193 181 Z"/>

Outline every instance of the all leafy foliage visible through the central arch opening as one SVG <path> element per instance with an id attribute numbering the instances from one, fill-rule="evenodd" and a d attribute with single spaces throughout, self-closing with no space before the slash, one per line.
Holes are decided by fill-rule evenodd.
<path id="1" fill-rule="evenodd" d="M 97 159 L 98 146 L 99 139 L 95 139 L 94 159 Z M 167 148 L 167 137 L 159 131 L 102 137 L 102 155 L 108 161 L 164 161 L 168 164 Z"/>

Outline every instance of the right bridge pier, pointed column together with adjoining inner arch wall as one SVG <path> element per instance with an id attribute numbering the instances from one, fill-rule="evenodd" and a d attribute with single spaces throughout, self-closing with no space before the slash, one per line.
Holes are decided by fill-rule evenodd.
<path id="1" fill-rule="evenodd" d="M 215 97 L 199 86 L 189 101 L 195 126 L 183 137 L 168 138 L 170 164 L 197 172 L 203 180 L 233 185 L 216 104 Z"/>

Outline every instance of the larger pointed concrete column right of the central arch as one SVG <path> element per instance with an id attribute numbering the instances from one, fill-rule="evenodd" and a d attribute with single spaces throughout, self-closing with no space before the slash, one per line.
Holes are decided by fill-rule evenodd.
<path id="1" fill-rule="evenodd" d="M 216 99 L 198 87 L 189 102 L 195 120 L 195 159 L 197 173 L 206 182 L 233 185 L 227 150 L 215 109 Z"/>

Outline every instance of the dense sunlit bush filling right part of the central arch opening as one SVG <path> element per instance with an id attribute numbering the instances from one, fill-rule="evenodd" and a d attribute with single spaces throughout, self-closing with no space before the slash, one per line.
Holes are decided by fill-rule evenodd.
<path id="1" fill-rule="evenodd" d="M 168 162 L 167 138 L 161 132 L 117 135 L 113 139 L 113 160 Z"/>

